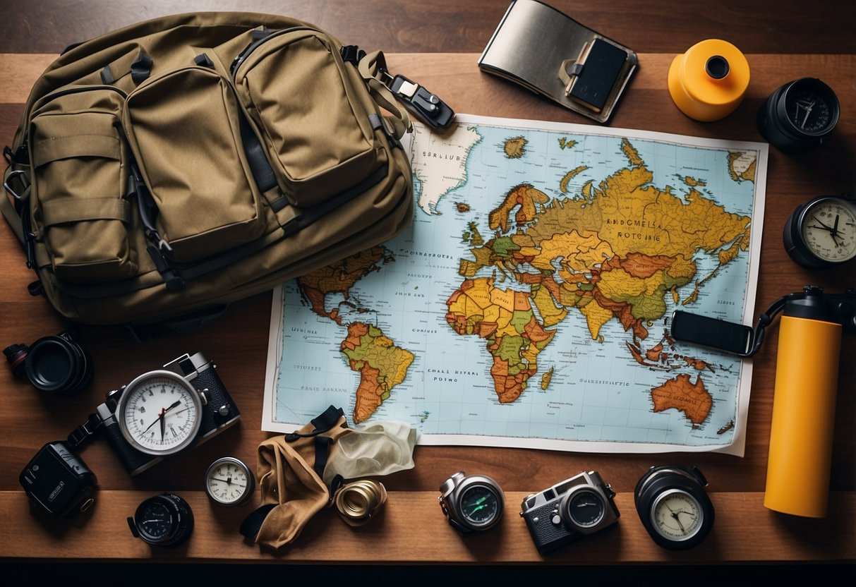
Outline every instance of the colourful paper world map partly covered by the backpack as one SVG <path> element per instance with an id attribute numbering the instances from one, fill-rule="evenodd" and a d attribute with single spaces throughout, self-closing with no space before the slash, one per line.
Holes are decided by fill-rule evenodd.
<path id="1" fill-rule="evenodd" d="M 413 226 L 275 296 L 265 430 L 333 404 L 423 443 L 741 454 L 751 363 L 669 317 L 751 320 L 765 148 L 416 125 Z"/>

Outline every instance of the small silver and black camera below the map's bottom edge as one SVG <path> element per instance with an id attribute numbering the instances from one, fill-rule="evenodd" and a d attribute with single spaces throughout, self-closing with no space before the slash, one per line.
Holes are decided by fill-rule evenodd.
<path id="1" fill-rule="evenodd" d="M 549 489 L 528 495 L 520 506 L 532 542 L 541 554 L 603 530 L 618 521 L 615 491 L 597 471 L 582 471 Z"/>

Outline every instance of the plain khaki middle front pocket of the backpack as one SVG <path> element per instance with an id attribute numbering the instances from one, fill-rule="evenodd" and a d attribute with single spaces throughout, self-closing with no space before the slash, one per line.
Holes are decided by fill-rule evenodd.
<path id="1" fill-rule="evenodd" d="M 128 96 L 128 139 L 175 261 L 227 251 L 265 231 L 240 116 L 235 90 L 210 68 L 175 70 Z"/>

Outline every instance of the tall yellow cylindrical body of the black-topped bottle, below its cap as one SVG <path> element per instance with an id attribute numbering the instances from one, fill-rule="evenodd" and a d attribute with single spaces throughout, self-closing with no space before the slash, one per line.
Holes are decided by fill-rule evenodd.
<path id="1" fill-rule="evenodd" d="M 826 516 L 841 324 L 783 316 L 764 506 Z"/>

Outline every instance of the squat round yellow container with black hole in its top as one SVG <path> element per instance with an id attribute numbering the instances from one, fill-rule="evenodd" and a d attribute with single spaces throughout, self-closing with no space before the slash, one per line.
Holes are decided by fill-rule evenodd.
<path id="1" fill-rule="evenodd" d="M 718 121 L 740 105 L 749 86 L 749 62 L 722 39 L 705 39 L 675 56 L 669 67 L 669 94 L 685 115 Z"/>

